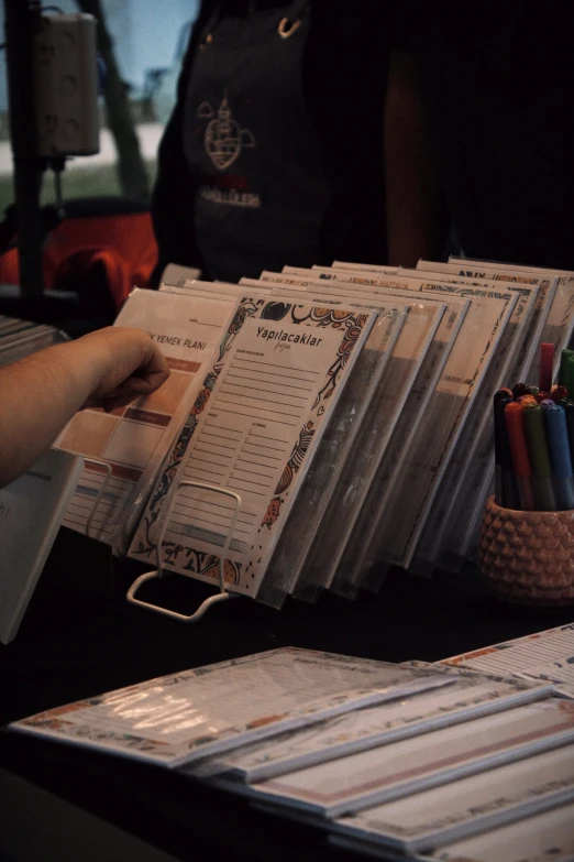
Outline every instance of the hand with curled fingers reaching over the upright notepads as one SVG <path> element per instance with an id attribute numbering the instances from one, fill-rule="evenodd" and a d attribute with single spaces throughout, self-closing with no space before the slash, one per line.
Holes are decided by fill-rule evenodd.
<path id="1" fill-rule="evenodd" d="M 75 346 L 93 360 L 96 374 L 84 407 L 123 407 L 151 395 L 169 377 L 164 354 L 142 329 L 109 326 L 79 338 Z"/>

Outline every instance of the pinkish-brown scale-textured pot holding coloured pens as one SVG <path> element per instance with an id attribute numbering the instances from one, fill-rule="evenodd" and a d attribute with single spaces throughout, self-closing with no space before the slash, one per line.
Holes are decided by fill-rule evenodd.
<path id="1" fill-rule="evenodd" d="M 478 567 L 498 598 L 517 604 L 574 604 L 574 510 L 519 512 L 485 504 Z"/>

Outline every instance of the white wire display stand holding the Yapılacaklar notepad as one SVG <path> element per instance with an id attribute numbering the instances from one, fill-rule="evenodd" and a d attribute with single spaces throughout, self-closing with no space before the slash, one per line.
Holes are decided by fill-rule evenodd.
<path id="1" fill-rule="evenodd" d="M 164 543 L 164 536 L 167 530 L 167 525 L 169 523 L 169 515 L 172 514 L 172 509 L 177 498 L 177 492 L 179 491 L 180 488 L 201 488 L 206 491 L 213 491 L 214 493 L 223 494 L 225 497 L 231 497 L 235 501 L 231 524 L 228 534 L 225 536 L 225 541 L 223 542 L 223 546 L 221 548 L 221 555 L 219 557 L 219 592 L 216 596 L 210 596 L 209 599 L 206 599 L 203 602 L 201 602 L 197 611 L 190 615 L 178 613 L 177 611 L 170 611 L 167 608 L 162 608 L 162 605 L 159 604 L 153 604 L 152 602 L 143 601 L 142 599 L 135 598 L 135 593 L 137 592 L 137 590 L 143 583 L 145 583 L 148 580 L 153 580 L 154 578 L 162 578 L 164 576 L 164 565 L 162 563 L 162 545 Z M 162 613 L 166 617 L 170 617 L 172 619 L 178 620 L 179 622 L 194 623 L 200 620 L 213 604 L 218 604 L 219 602 L 228 601 L 229 599 L 236 598 L 236 594 L 228 592 L 228 590 L 225 589 L 224 564 L 225 564 L 225 552 L 229 549 L 229 546 L 231 544 L 231 539 L 235 530 L 235 523 L 238 521 L 238 515 L 240 512 L 240 506 L 241 506 L 241 497 L 236 494 L 234 491 L 229 491 L 227 488 L 219 488 L 218 485 L 207 484 L 206 482 L 195 482 L 187 479 L 179 482 L 176 487 L 175 493 L 172 494 L 172 499 L 169 501 L 164 517 L 162 531 L 159 533 L 159 538 L 157 539 L 157 569 L 154 569 L 153 571 L 146 571 L 144 575 L 141 575 L 139 578 L 134 580 L 134 582 L 132 583 L 132 586 L 130 587 L 125 596 L 128 601 L 131 602 L 132 604 L 139 604 L 142 608 L 147 608 L 147 610 L 155 611 L 156 613 Z M 169 572 L 169 574 L 176 574 L 176 572 Z M 185 578 L 191 576 L 183 575 L 181 577 Z"/>

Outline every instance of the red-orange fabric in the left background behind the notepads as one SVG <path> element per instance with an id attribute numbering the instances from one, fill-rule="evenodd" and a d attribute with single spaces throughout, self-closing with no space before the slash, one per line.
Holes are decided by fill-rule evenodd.
<path id="1" fill-rule="evenodd" d="M 103 266 L 117 308 L 134 285 L 147 286 L 157 262 L 152 219 L 148 212 L 67 218 L 48 233 L 43 250 L 46 290 L 74 290 L 82 272 Z M 18 253 L 0 257 L 0 283 L 19 284 Z"/>

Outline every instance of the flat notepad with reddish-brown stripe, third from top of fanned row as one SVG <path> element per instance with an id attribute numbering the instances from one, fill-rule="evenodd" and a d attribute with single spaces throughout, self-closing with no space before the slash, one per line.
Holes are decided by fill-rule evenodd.
<path id="1" fill-rule="evenodd" d="M 549 698 L 256 782 L 236 793 L 333 819 L 574 742 L 574 703 Z M 225 776 L 210 783 L 229 787 Z"/>

